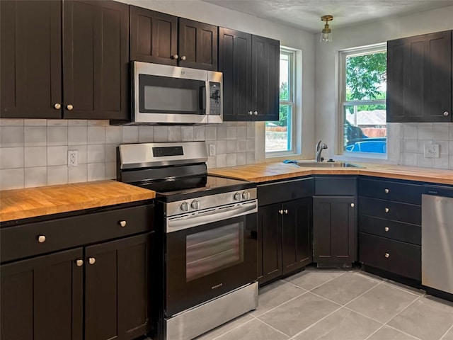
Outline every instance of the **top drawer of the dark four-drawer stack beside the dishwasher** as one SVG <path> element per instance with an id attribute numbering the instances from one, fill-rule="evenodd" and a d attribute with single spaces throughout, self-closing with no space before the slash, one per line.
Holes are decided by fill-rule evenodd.
<path id="1" fill-rule="evenodd" d="M 359 179 L 359 196 L 422 204 L 422 186 L 409 183 Z"/>

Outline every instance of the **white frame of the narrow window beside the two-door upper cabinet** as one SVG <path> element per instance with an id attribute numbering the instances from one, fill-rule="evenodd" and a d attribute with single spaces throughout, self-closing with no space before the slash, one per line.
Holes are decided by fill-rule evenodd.
<path id="1" fill-rule="evenodd" d="M 265 158 L 271 157 L 284 157 L 289 155 L 297 154 L 297 103 L 296 103 L 296 71 L 297 71 L 297 50 L 292 50 L 288 47 L 280 47 L 280 54 L 287 55 L 289 72 L 288 72 L 288 100 L 280 100 L 280 86 L 279 86 L 279 111 L 280 105 L 287 105 L 290 108 L 291 115 L 288 117 L 288 127 L 287 132 L 290 133 L 289 142 L 291 147 L 286 150 L 281 151 L 265 151 Z M 280 75 L 279 75 L 279 84 L 280 84 Z"/>

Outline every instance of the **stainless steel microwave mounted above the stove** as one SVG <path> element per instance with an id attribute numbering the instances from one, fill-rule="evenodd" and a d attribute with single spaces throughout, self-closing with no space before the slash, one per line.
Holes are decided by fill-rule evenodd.
<path id="1" fill-rule="evenodd" d="M 222 72 L 132 62 L 132 122 L 222 123 Z"/>

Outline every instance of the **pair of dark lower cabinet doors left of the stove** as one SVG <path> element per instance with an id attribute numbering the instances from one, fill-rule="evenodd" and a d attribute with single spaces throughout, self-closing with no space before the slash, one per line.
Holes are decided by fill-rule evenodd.
<path id="1" fill-rule="evenodd" d="M 147 334 L 151 237 L 2 265 L 1 339 L 129 340 Z"/>

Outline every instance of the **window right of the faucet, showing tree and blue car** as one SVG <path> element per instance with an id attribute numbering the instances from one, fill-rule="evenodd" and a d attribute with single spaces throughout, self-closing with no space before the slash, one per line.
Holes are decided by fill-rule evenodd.
<path id="1" fill-rule="evenodd" d="M 386 45 L 340 52 L 343 154 L 386 154 Z"/>

